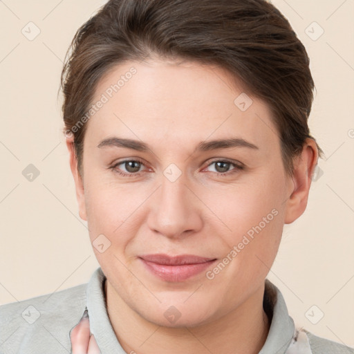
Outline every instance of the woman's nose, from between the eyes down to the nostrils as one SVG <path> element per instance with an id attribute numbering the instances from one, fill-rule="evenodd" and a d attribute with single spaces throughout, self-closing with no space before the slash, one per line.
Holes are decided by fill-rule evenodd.
<path id="1" fill-rule="evenodd" d="M 183 175 L 174 182 L 162 175 L 150 203 L 148 225 L 153 232 L 176 239 L 198 232 L 203 226 L 203 203 Z"/>

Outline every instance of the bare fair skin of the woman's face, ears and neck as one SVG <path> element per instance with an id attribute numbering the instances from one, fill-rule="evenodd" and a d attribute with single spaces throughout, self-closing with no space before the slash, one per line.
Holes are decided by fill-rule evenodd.
<path id="1" fill-rule="evenodd" d="M 66 140 L 91 242 L 100 234 L 111 242 L 104 252 L 93 251 L 108 280 L 107 311 L 115 334 L 127 353 L 259 353 L 270 326 L 262 305 L 265 277 L 284 223 L 306 209 L 318 158 L 315 142 L 306 140 L 294 176 L 288 176 L 267 104 L 232 84 L 222 68 L 195 62 L 154 58 L 120 64 L 99 82 L 93 101 L 131 66 L 136 75 L 87 123 L 83 179 L 73 139 Z M 234 104 L 243 92 L 253 100 L 244 112 Z M 145 142 L 150 149 L 97 147 L 113 136 Z M 259 149 L 195 151 L 199 142 L 236 137 Z M 143 163 L 109 168 L 130 158 Z M 244 169 L 212 163 L 225 159 Z M 182 173 L 174 182 L 163 174 L 171 163 Z M 229 174 L 221 176 L 225 171 Z M 196 254 L 221 261 L 272 209 L 277 216 L 214 279 L 201 272 L 185 281 L 164 281 L 138 258 Z M 174 323 L 164 316 L 170 306 L 180 313 Z"/>

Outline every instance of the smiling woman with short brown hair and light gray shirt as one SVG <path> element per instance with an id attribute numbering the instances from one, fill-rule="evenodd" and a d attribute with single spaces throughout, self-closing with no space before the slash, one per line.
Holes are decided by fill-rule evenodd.
<path id="1" fill-rule="evenodd" d="M 41 318 L 14 353 L 354 353 L 296 328 L 266 279 L 322 156 L 308 55 L 277 8 L 111 0 L 77 31 L 62 88 L 100 268 L 2 306 L 6 337 L 25 305 Z"/>

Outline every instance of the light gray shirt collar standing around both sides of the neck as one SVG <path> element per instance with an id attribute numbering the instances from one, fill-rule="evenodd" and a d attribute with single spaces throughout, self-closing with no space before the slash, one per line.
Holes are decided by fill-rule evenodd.
<path id="1" fill-rule="evenodd" d="M 95 336 L 102 354 L 125 354 L 115 336 L 106 310 L 104 281 L 106 276 L 101 268 L 93 272 L 86 288 L 87 310 L 90 318 L 90 331 Z M 289 347 L 296 330 L 288 314 L 286 303 L 277 286 L 265 279 L 263 308 L 271 319 L 268 337 L 259 354 L 281 354 Z"/>

